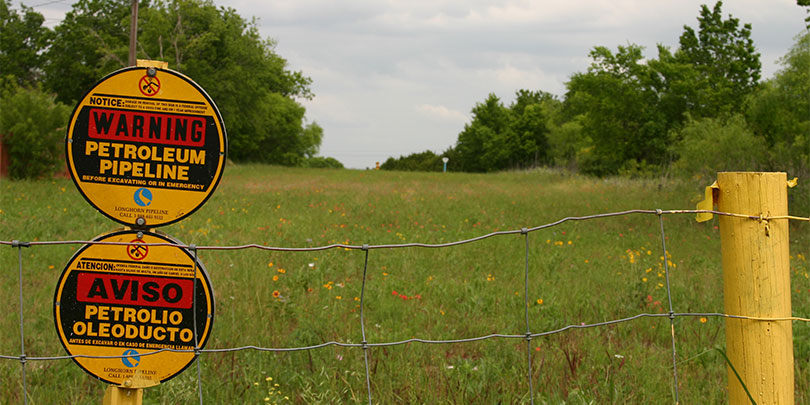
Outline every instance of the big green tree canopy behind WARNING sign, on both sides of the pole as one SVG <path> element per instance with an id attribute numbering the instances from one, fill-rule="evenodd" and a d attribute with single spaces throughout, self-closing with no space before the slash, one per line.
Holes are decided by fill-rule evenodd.
<path id="1" fill-rule="evenodd" d="M 298 102 L 312 97 L 311 80 L 287 68 L 255 20 L 210 0 L 143 1 L 139 8 L 138 57 L 166 61 L 206 90 L 225 121 L 231 159 L 298 165 L 317 153 L 323 129 L 306 123 Z M 47 83 L 59 100 L 75 103 L 126 65 L 129 13 L 127 0 L 79 0 L 67 13 L 48 53 Z"/>

